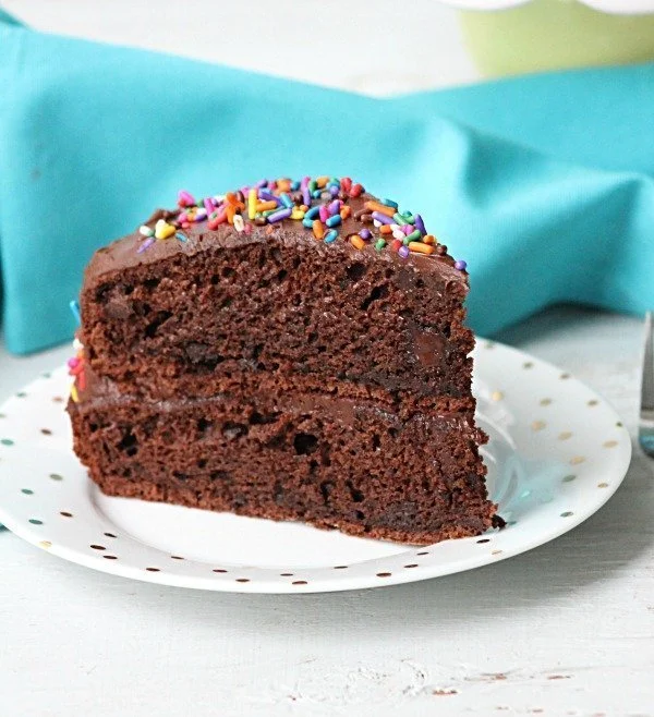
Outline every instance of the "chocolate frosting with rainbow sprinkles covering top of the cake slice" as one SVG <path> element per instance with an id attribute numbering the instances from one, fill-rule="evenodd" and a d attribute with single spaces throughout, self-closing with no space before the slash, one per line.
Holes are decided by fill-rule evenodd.
<path id="1" fill-rule="evenodd" d="M 447 253 L 420 215 L 374 197 L 347 177 L 262 180 L 202 199 L 182 191 L 177 209 L 157 210 L 136 232 L 98 250 L 86 268 L 85 283 L 175 254 L 193 255 L 209 246 L 238 248 L 271 239 L 319 252 L 338 242 L 353 257 L 374 254 L 468 290 L 465 262 Z"/>

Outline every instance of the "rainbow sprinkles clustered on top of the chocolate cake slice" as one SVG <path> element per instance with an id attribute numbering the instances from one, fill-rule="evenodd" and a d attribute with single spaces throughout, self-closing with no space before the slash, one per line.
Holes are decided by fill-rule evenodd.
<path id="1" fill-rule="evenodd" d="M 187 238 L 183 230 L 198 222 L 206 222 L 209 230 L 231 224 L 237 232 L 249 234 L 254 227 L 300 221 L 316 241 L 325 244 L 340 236 L 356 250 L 363 251 L 370 245 L 377 252 L 395 252 L 403 259 L 411 254 L 444 256 L 447 253 L 447 247 L 427 233 L 420 215 L 400 210 L 393 199 L 362 197 L 364 192 L 363 185 L 349 177 L 327 175 L 304 177 L 301 181 L 261 180 L 253 186 L 201 199 L 181 191 L 177 214 L 169 212 L 154 227 L 144 224 L 138 229 L 141 239 L 136 252 L 141 254 L 157 241 L 171 238 L 185 243 Z M 354 203 L 355 206 L 349 204 L 358 197 L 362 199 Z M 355 228 L 352 228 L 352 220 Z M 455 262 L 453 266 L 459 271 L 467 269 L 462 260 Z"/>

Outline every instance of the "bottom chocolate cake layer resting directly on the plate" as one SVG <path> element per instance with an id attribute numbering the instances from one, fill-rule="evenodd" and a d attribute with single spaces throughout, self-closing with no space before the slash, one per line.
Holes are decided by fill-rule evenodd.
<path id="1" fill-rule="evenodd" d="M 491 527 L 472 412 L 405 421 L 300 391 L 72 403 L 75 450 L 109 495 L 413 544 Z"/>

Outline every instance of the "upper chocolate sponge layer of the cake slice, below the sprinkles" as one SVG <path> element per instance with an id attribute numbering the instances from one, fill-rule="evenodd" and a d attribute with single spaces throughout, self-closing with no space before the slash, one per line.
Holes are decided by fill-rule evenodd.
<path id="1" fill-rule="evenodd" d="M 187 230 L 155 264 L 122 266 L 136 238 L 99 255 L 82 294 L 93 369 L 153 399 L 211 396 L 238 370 L 470 392 L 460 271 L 428 256 L 407 263 L 372 246 L 326 245 L 295 224 Z"/>

